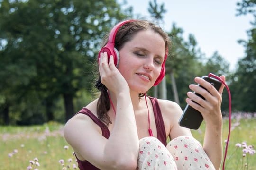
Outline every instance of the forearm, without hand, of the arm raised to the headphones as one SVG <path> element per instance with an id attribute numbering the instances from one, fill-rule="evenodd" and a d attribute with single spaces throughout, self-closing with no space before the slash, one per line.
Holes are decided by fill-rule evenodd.
<path id="1" fill-rule="evenodd" d="M 139 139 L 132 102 L 128 94 L 117 96 L 116 118 L 111 135 L 105 146 L 109 160 L 137 161 Z"/>

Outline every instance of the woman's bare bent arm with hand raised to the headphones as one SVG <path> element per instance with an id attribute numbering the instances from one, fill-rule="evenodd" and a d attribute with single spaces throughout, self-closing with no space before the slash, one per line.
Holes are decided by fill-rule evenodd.
<path id="1" fill-rule="evenodd" d="M 65 138 L 82 158 L 101 170 L 135 170 L 139 139 L 129 86 L 115 67 L 113 56 L 108 63 L 107 54 L 101 54 L 99 71 L 101 83 L 116 101 L 109 139 L 102 137 L 99 127 L 84 115 L 77 115 L 66 124 Z"/>

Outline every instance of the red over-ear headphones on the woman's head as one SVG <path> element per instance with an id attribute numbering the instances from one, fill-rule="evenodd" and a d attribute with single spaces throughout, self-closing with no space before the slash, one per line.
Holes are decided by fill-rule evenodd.
<path id="1" fill-rule="evenodd" d="M 109 39 L 108 39 L 107 44 L 104 47 L 102 47 L 101 50 L 99 51 L 98 59 L 100 58 L 100 54 L 102 52 L 107 52 L 108 58 L 110 58 L 110 55 L 113 55 L 114 63 L 116 65 L 116 67 L 118 67 L 120 57 L 119 57 L 118 50 L 115 48 L 116 34 L 117 34 L 117 32 L 118 32 L 118 30 L 121 26 L 123 26 L 126 23 L 133 22 L 133 21 L 136 21 L 136 20 L 134 20 L 134 19 L 125 20 L 125 21 L 122 21 L 122 22 L 118 23 L 116 26 L 114 26 L 112 28 L 112 30 L 110 31 L 110 35 L 109 35 Z M 168 47 L 166 47 L 166 49 L 165 49 L 165 59 L 164 59 L 164 62 L 162 63 L 162 68 L 161 68 L 160 75 L 155 80 L 154 86 L 158 85 L 163 80 L 163 78 L 165 77 L 165 61 L 167 59 L 167 54 L 168 54 Z"/>

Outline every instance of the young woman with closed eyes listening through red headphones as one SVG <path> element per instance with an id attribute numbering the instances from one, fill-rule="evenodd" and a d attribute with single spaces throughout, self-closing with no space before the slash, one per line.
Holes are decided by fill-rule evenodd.
<path id="1" fill-rule="evenodd" d="M 218 92 L 200 77 L 194 80 L 206 90 L 189 85 L 205 98 L 188 92 L 186 99 L 206 123 L 203 146 L 189 129 L 179 126 L 182 110 L 176 103 L 146 95 L 165 75 L 169 45 L 168 35 L 146 20 L 121 22 L 106 36 L 95 85 L 101 95 L 64 127 L 81 170 L 220 168 L 223 86 Z M 166 144 L 168 136 L 171 141 Z"/>

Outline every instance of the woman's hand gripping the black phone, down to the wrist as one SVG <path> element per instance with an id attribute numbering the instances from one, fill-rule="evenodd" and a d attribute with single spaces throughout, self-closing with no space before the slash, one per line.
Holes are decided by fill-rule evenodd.
<path id="1" fill-rule="evenodd" d="M 225 76 L 220 76 L 220 78 L 225 82 Z M 220 106 L 224 85 L 221 85 L 219 91 L 217 91 L 213 85 L 200 77 L 195 77 L 194 81 L 205 89 L 194 84 L 189 85 L 189 88 L 192 91 L 195 91 L 195 93 L 201 94 L 205 100 L 193 92 L 188 92 L 187 95 L 189 98 L 186 99 L 186 102 L 194 109 L 201 112 L 206 125 L 219 125 L 219 123 L 222 123 Z"/>

